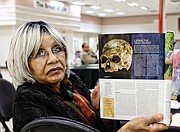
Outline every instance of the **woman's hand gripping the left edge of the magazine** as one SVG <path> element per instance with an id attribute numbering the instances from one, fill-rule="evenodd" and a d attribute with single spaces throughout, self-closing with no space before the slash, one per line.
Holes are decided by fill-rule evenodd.
<path id="1" fill-rule="evenodd" d="M 97 86 L 94 87 L 91 95 L 91 104 L 93 108 L 98 111 L 100 109 L 100 84 L 98 83 Z"/>

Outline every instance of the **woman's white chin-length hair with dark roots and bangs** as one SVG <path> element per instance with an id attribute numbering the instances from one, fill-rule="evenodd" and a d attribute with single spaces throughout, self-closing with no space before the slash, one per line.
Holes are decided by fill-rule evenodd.
<path id="1" fill-rule="evenodd" d="M 33 50 L 35 51 L 35 54 L 37 54 L 42 42 L 42 34 L 44 32 L 51 35 L 58 44 L 64 45 L 67 65 L 66 73 L 67 76 L 69 76 L 70 70 L 67 64 L 67 49 L 62 36 L 55 28 L 46 22 L 32 21 L 20 26 L 15 31 L 10 42 L 7 65 L 15 86 L 21 85 L 25 82 L 35 82 L 29 69 L 28 58 Z"/>

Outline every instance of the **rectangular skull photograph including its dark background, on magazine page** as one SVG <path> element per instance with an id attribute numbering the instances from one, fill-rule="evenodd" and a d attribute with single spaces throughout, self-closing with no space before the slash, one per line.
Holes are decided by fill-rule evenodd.
<path id="1" fill-rule="evenodd" d="M 104 35 L 103 35 L 104 36 Z M 105 35 L 106 36 L 106 35 Z M 129 43 L 129 35 L 99 36 L 100 39 L 100 72 L 105 78 L 131 77 L 133 49 Z M 103 42 L 102 42 L 103 41 Z"/>

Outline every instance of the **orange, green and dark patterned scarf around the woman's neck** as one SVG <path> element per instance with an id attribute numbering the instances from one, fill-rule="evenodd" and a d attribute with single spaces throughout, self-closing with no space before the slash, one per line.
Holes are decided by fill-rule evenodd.
<path id="1" fill-rule="evenodd" d="M 72 83 L 64 78 L 59 89 L 51 89 L 59 93 L 62 100 L 68 105 L 86 124 L 95 126 L 96 114 L 88 100 L 80 95 Z"/>

